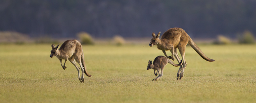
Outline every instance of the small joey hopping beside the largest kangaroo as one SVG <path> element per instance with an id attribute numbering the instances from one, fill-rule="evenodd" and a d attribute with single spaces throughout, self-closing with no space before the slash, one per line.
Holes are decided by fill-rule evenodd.
<path id="1" fill-rule="evenodd" d="M 182 60 L 181 60 L 182 62 Z M 167 63 L 170 63 L 172 64 L 173 66 L 175 67 L 178 67 L 180 66 L 181 62 L 179 64 L 174 64 L 170 59 L 164 57 L 164 56 L 157 56 L 152 64 L 152 61 L 148 61 L 148 68 L 147 70 L 149 69 L 153 69 L 154 70 L 154 74 L 157 76 L 157 72 L 158 72 L 158 76 L 153 79 L 153 80 L 158 80 L 160 77 L 162 77 L 164 74 L 164 67 L 167 65 Z M 161 69 L 161 70 L 160 70 Z M 156 71 L 156 73 L 155 73 Z M 152 80 L 152 81 L 153 81 Z"/>

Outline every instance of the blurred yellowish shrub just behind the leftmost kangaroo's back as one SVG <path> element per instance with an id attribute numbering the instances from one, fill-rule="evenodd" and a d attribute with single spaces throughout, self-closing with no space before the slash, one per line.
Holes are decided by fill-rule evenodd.
<path id="1" fill-rule="evenodd" d="M 92 45 L 94 44 L 92 36 L 86 32 L 77 33 L 77 37 L 80 39 L 81 44 Z"/>

